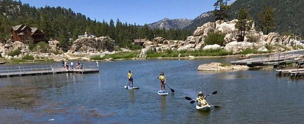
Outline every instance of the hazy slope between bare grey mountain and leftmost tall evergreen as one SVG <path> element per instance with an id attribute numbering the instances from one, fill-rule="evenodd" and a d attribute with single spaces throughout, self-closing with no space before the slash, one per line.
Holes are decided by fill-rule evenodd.
<path id="1" fill-rule="evenodd" d="M 210 21 L 211 22 L 215 21 L 215 16 L 213 15 L 212 11 L 201 14 L 200 16 L 196 17 L 194 20 L 192 20 L 187 26 L 185 26 L 182 29 L 194 31 L 197 27 L 200 27 L 203 24 L 210 22 Z"/>

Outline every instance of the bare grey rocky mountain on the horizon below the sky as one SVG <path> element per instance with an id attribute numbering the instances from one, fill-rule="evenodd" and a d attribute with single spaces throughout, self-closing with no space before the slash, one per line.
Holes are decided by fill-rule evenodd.
<path id="1" fill-rule="evenodd" d="M 192 19 L 169 19 L 164 18 L 160 21 L 150 23 L 148 26 L 150 28 L 160 28 L 160 29 L 182 29 L 191 23 Z"/>

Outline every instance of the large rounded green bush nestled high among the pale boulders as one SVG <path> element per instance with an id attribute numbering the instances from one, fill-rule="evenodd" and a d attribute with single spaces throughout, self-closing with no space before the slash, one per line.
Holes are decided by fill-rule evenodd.
<path id="1" fill-rule="evenodd" d="M 222 46 L 224 44 L 225 35 L 220 32 L 209 33 L 205 36 L 205 44 L 206 45 L 214 45 L 217 44 Z"/>

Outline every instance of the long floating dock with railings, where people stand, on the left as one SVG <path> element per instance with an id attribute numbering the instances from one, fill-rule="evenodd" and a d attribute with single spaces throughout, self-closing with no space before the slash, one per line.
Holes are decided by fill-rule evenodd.
<path id="1" fill-rule="evenodd" d="M 1 67 L 0 77 L 26 76 L 36 74 L 57 74 L 57 73 L 98 73 L 97 64 L 83 64 L 80 69 L 64 68 L 62 65 L 37 65 L 37 66 L 14 66 Z"/>

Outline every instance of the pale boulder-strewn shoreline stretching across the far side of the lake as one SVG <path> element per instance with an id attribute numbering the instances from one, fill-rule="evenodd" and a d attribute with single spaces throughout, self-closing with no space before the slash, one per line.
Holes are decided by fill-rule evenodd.
<path id="1" fill-rule="evenodd" d="M 64 60 L 87 60 L 87 61 L 120 61 L 120 60 L 142 60 L 151 59 L 147 57 L 147 52 L 155 52 L 165 55 L 167 51 L 173 51 L 178 57 L 155 57 L 152 59 L 200 59 L 200 58 L 215 58 L 215 57 L 230 57 L 232 55 L 240 55 L 246 50 L 254 50 L 256 53 L 278 53 L 284 51 L 291 51 L 295 49 L 302 49 L 304 44 L 300 43 L 296 37 L 281 36 L 279 33 L 269 33 L 264 35 L 262 32 L 258 32 L 254 29 L 254 24 L 251 30 L 247 32 L 243 42 L 238 42 L 240 37 L 238 36 L 238 29 L 235 24 L 238 20 L 232 21 L 216 21 L 208 22 L 201 27 L 198 27 L 192 36 L 188 36 L 186 40 L 168 40 L 163 37 L 156 37 L 152 40 L 147 40 L 143 44 L 143 49 L 139 50 L 138 55 L 133 55 L 132 58 L 119 58 L 115 59 L 105 57 L 106 55 L 116 54 L 128 54 L 136 51 L 131 51 L 126 48 L 116 48 L 115 41 L 108 36 L 101 37 L 82 37 L 75 40 L 67 52 L 64 52 L 59 47 L 58 40 L 51 40 L 46 45 L 36 46 L 34 50 L 30 50 L 29 45 L 21 42 L 13 42 L 11 39 L 6 43 L 0 43 L 0 59 L 10 62 L 12 60 L 24 60 L 30 59 L 30 61 L 44 61 L 51 59 L 53 61 Z M 223 45 L 208 45 L 205 43 L 206 36 L 209 33 L 220 32 L 224 35 Z M 217 56 L 212 54 L 208 56 L 191 55 L 186 54 L 180 56 L 180 53 L 187 52 L 208 52 L 222 50 L 225 51 L 224 56 Z M 231 52 L 231 53 L 230 53 Z M 16 54 L 17 53 L 17 54 Z M 229 54 L 227 54 L 229 53 Z M 245 54 L 249 54 L 248 52 Z M 206 56 L 205 56 L 206 55 Z M 222 55 L 222 54 L 221 54 Z M 241 55 L 242 57 L 248 57 L 256 55 L 251 53 L 250 55 Z M 95 58 L 94 58 L 95 57 Z M 94 59 L 93 59 L 94 58 Z"/>

